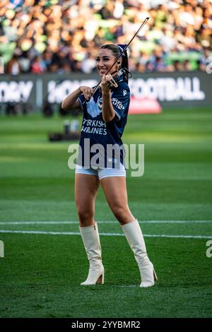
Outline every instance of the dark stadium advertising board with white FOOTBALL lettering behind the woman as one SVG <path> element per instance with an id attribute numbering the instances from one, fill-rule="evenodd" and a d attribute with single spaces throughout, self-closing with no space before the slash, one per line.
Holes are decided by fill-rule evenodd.
<path id="1" fill-rule="evenodd" d="M 98 76 L 71 75 L 21 75 L 0 76 L 0 102 L 29 103 L 39 111 L 44 102 L 60 104 L 64 97 L 79 85 L 94 86 Z M 134 73 L 129 80 L 134 99 L 158 100 L 161 107 L 195 107 L 212 105 L 212 76 L 203 72 Z"/>

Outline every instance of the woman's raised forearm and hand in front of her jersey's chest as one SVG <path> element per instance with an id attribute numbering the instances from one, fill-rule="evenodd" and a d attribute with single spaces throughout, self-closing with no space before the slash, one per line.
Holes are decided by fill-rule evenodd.
<path id="1" fill-rule="evenodd" d="M 102 76 L 102 118 L 105 122 L 110 122 L 114 119 L 114 109 L 111 102 L 110 88 L 107 87 L 107 83 L 112 78 L 111 75 Z"/>

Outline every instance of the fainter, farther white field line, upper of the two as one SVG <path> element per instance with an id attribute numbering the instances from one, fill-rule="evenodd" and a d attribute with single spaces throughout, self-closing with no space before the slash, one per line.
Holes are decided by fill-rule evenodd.
<path id="1" fill-rule="evenodd" d="M 143 220 L 141 224 L 212 224 L 212 220 Z M 71 225 L 78 221 L 2 221 L 0 225 Z M 98 221 L 98 224 L 118 224 L 115 220 Z"/>

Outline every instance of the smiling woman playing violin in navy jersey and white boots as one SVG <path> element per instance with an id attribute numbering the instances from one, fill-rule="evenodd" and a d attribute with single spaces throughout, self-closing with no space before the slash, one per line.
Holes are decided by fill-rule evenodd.
<path id="1" fill-rule="evenodd" d="M 127 53 L 105 75 L 114 61 L 122 53 L 121 45 L 103 45 L 96 58 L 98 73 L 102 77 L 101 90 L 93 95 L 93 88 L 80 86 L 62 103 L 64 109 L 81 109 L 83 125 L 81 129 L 81 155 L 76 165 L 75 196 L 79 218 L 79 229 L 90 263 L 88 278 L 81 285 L 104 283 L 104 266 L 98 225 L 94 221 L 95 198 L 98 187 L 102 186 L 107 203 L 112 213 L 119 221 L 141 273 L 140 287 L 150 287 L 155 284 L 156 275 L 153 264 L 146 254 L 146 246 L 138 221 L 131 214 L 127 202 L 126 171 L 124 168 L 123 150 L 119 150 L 119 158 L 107 158 L 107 146 L 117 144 L 122 146 L 122 134 L 126 124 L 129 109 L 130 92 L 128 76 L 124 74 L 117 88 L 110 88 L 109 82 L 121 68 L 128 69 Z M 115 72 L 115 73 L 114 73 Z M 101 144 L 105 148 L 103 167 L 93 165 L 93 153 L 86 147 Z M 91 149 L 92 150 L 92 149 Z M 86 157 L 87 155 L 87 157 Z M 96 160 L 95 160 L 96 161 Z M 109 164 L 109 165 L 108 165 Z"/>

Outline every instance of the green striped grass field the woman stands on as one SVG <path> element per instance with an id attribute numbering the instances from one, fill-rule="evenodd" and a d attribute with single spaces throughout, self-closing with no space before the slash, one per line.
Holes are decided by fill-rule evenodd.
<path id="1" fill-rule="evenodd" d="M 158 275 L 147 289 L 139 287 L 136 261 L 102 189 L 95 219 L 105 285 L 80 286 L 88 261 L 67 165 L 70 142 L 47 141 L 63 121 L 0 117 L 0 316 L 211 317 L 212 109 L 129 117 L 124 143 L 145 144 L 145 173 L 128 176 L 127 185 Z"/>

